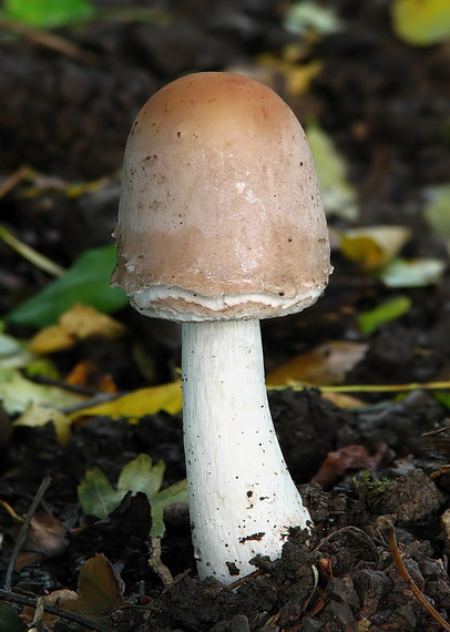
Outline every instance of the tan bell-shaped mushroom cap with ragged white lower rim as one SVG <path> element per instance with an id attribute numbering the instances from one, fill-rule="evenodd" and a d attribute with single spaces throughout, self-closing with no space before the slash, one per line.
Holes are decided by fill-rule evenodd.
<path id="1" fill-rule="evenodd" d="M 142 108 L 115 237 L 112 283 L 172 320 L 299 312 L 333 269 L 301 125 L 273 90 L 226 72 L 183 77 Z"/>

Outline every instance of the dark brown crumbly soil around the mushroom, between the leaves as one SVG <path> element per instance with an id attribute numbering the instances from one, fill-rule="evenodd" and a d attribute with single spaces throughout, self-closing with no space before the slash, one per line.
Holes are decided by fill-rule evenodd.
<path id="1" fill-rule="evenodd" d="M 155 90 L 187 71 L 250 67 L 258 53 L 278 53 L 293 41 L 283 27 L 283 2 L 158 4 L 173 16 L 170 27 L 125 21 L 62 30 L 91 55 L 89 62 L 0 35 L 0 177 L 29 164 L 52 183 L 33 196 L 24 194 L 25 183 L 19 184 L 3 197 L 0 220 L 62 265 L 88 247 L 108 243 L 129 128 Z M 413 231 L 407 255 L 444 257 L 443 242 L 430 233 L 421 211 L 423 186 L 439 184 L 450 173 L 442 133 L 448 118 L 448 48 L 400 42 L 391 32 L 387 2 L 336 0 L 328 6 L 338 11 L 346 28 L 310 49 L 310 58 L 320 59 L 323 70 L 309 92 L 290 98 L 290 104 L 301 121 L 316 116 L 344 153 L 359 194 L 362 224 L 407 225 Z M 275 82 L 284 93 L 284 78 L 277 75 Z M 64 193 L 64 182 L 99 177 L 106 177 L 108 184 L 96 191 L 78 197 Z M 330 223 L 342 225 L 338 218 Z M 8 313 L 41 288 L 48 276 L 3 243 L 0 253 L 0 309 Z M 338 252 L 333 264 L 330 285 L 314 307 L 283 322 L 263 323 L 267 368 L 319 343 L 347 339 L 368 346 L 346 376 L 347 384 L 447 379 L 449 271 L 438 285 L 402 290 L 411 299 L 410 312 L 364 336 L 355 326 L 355 314 L 396 294 L 361 275 Z M 121 390 L 142 387 L 147 381 L 129 353 L 142 342 L 154 358 L 154 383 L 172 379 L 180 363 L 176 326 L 149 322 L 130 308 L 115 316 L 129 327 L 125 342 L 90 339 L 60 353 L 53 359 L 61 373 L 91 359 Z M 32 333 L 17 326 L 9 332 L 23 337 Z M 180 415 L 158 412 L 135 425 L 106 417 L 86 419 L 61 446 L 52 425 L 10 434 L 11 419 L 1 412 L 0 499 L 17 513 L 27 513 L 50 473 L 52 482 L 40 511 L 42 520 L 53 516 L 60 529 L 58 551 L 34 553 L 14 572 L 13 591 L 37 597 L 74 590 L 82 564 L 101 552 L 120 575 L 124 599 L 132 606 L 105 616 L 102 623 L 109 630 L 441 630 L 400 575 L 378 519 L 387 517 L 393 523 L 409 574 L 449 621 L 448 408 L 433 391 L 420 389 L 403 397 L 386 393 L 358 397 L 362 406 L 342 408 L 316 389 L 269 393 L 280 445 L 314 529 L 309 534 L 293 530 L 282 559 L 255 559 L 258 572 L 234 590 L 197 579 L 185 504 L 165 512 L 161 560 L 175 581 L 164 587 L 147 563 L 146 497 L 126 497 L 104 520 L 83 516 L 78 501 L 76 486 L 86 467 L 99 466 L 113 481 L 142 452 L 164 460 L 165 483 L 182 479 Z M 1 581 L 14 543 L 11 517 L 4 512 L 0 529 Z M 86 628 L 60 620 L 54 629 Z"/>

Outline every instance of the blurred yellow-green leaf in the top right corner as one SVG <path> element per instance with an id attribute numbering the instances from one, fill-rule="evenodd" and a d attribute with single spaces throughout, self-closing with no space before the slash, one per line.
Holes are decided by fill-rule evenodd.
<path id="1" fill-rule="evenodd" d="M 450 38 L 449 0 L 393 0 L 396 34 L 412 45 L 430 45 Z"/>

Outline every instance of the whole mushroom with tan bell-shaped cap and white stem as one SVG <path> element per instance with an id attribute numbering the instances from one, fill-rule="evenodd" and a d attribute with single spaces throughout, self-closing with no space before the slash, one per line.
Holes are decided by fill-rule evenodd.
<path id="1" fill-rule="evenodd" d="M 300 312 L 331 272 L 305 133 L 262 83 L 178 79 L 126 144 L 113 284 L 145 316 L 182 325 L 183 424 L 201 578 L 228 584 L 279 558 L 310 517 L 274 430 L 260 318 Z"/>

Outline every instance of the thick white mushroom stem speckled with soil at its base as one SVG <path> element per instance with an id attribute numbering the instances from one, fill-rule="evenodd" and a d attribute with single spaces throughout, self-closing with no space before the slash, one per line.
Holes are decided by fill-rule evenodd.
<path id="1" fill-rule="evenodd" d="M 310 520 L 272 421 L 259 320 L 183 325 L 183 420 L 198 573 L 232 583 Z"/>

